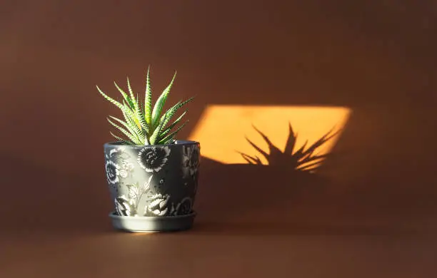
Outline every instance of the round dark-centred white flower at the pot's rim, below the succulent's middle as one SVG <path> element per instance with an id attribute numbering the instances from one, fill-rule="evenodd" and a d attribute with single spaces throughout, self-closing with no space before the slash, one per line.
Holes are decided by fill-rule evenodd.
<path id="1" fill-rule="evenodd" d="M 138 163 L 147 172 L 159 172 L 170 155 L 169 147 L 145 147 L 139 151 Z"/>

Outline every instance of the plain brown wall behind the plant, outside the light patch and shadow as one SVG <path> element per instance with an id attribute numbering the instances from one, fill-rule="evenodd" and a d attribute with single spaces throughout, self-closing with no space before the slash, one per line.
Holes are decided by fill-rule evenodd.
<path id="1" fill-rule="evenodd" d="M 104 225 L 115 110 L 95 85 L 127 75 L 140 91 L 151 64 L 154 88 L 178 71 L 172 102 L 197 96 L 181 137 L 208 104 L 350 107 L 336 145 L 348 155 L 323 170 L 331 216 L 432 217 L 436 13 L 424 0 L 2 1 L 0 211 L 16 225 L 71 212 Z M 206 168 L 199 202 L 211 219 Z"/>

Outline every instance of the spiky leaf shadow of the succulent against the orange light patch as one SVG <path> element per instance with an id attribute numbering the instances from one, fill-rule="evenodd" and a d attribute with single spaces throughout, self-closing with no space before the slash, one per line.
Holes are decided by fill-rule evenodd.
<path id="1" fill-rule="evenodd" d="M 266 135 L 264 135 L 258 128 L 256 128 L 254 125 L 252 125 L 253 128 L 263 137 L 263 139 L 268 144 L 269 152 L 262 150 L 260 147 L 255 145 L 251 140 L 249 140 L 246 137 L 246 140 L 248 143 L 250 143 L 253 148 L 258 150 L 261 155 L 263 155 L 264 158 L 267 160 L 267 164 L 271 166 L 280 166 L 280 167 L 286 167 L 286 168 L 292 168 L 294 170 L 299 171 L 306 171 L 309 173 L 314 172 L 320 165 L 323 163 L 323 160 L 330 155 L 329 153 L 319 155 L 314 154 L 315 151 L 321 147 L 324 143 L 326 143 L 328 140 L 333 138 L 335 135 L 338 134 L 338 131 L 335 133 L 333 132 L 333 129 L 329 130 L 328 133 L 323 135 L 320 139 L 318 139 L 315 143 L 310 145 L 308 148 L 306 148 L 306 145 L 308 145 L 308 140 L 302 145 L 301 148 L 294 151 L 294 148 L 296 147 L 296 139 L 297 139 L 297 133 L 293 132 L 293 128 L 291 127 L 291 123 L 288 123 L 288 139 L 286 142 L 285 150 L 281 151 L 279 148 L 277 148 L 273 143 L 271 143 L 271 140 L 268 139 Z M 253 165 L 263 165 L 262 161 L 258 156 L 256 155 L 247 155 L 246 153 L 241 153 L 241 156 L 246 160 L 249 164 Z"/>

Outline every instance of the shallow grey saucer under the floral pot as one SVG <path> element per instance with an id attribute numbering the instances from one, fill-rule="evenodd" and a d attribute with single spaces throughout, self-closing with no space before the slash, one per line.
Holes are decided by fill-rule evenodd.
<path id="1" fill-rule="evenodd" d="M 115 212 L 109 214 L 112 225 L 117 230 L 126 232 L 176 232 L 189 230 L 193 226 L 196 212 L 179 216 L 119 216 Z"/>

